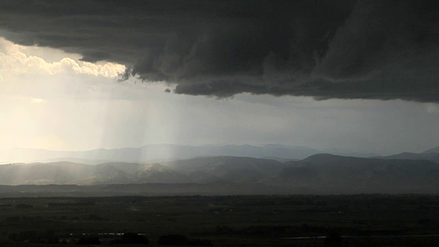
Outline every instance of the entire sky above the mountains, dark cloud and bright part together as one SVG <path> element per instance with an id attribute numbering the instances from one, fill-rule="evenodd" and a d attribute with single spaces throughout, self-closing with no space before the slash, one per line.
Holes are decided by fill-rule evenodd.
<path id="1" fill-rule="evenodd" d="M 421 152 L 437 20 L 436 1 L 1 1 L 0 148 Z"/>

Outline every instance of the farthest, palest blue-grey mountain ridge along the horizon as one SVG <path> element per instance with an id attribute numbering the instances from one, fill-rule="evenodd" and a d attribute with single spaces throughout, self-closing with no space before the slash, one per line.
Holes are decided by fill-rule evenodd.
<path id="1" fill-rule="evenodd" d="M 302 159 L 320 150 L 300 146 L 268 144 L 254 145 L 145 145 L 141 148 L 97 149 L 88 151 L 52 151 L 25 148 L 0 150 L 0 163 L 70 161 L 95 165 L 110 161 L 145 163 L 200 156 L 270 157 L 281 161 Z"/>

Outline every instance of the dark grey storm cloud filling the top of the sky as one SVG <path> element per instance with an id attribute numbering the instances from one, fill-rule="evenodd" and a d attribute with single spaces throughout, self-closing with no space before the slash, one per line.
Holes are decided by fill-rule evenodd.
<path id="1" fill-rule="evenodd" d="M 436 1 L 1 1 L 22 45 L 176 93 L 439 101 Z"/>

